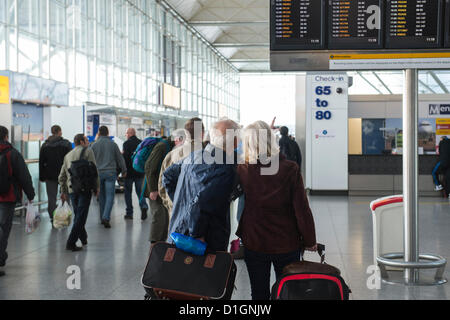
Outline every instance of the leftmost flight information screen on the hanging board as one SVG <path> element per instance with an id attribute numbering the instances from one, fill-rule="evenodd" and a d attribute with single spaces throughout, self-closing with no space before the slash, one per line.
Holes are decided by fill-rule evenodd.
<path id="1" fill-rule="evenodd" d="M 271 0 L 271 50 L 325 46 L 325 0 Z"/>

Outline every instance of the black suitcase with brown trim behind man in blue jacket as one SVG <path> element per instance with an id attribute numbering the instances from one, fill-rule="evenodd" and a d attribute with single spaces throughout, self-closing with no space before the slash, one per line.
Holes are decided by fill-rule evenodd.
<path id="1" fill-rule="evenodd" d="M 231 300 L 236 264 L 228 252 L 196 256 L 156 243 L 142 276 L 146 299 Z"/>

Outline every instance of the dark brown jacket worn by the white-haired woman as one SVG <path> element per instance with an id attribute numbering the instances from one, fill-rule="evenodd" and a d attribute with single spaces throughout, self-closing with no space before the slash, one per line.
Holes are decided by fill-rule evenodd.
<path id="1" fill-rule="evenodd" d="M 240 165 L 245 208 L 237 235 L 244 246 L 265 254 L 285 254 L 316 244 L 299 166 L 280 156 L 276 175 L 261 175 L 262 165 Z"/>

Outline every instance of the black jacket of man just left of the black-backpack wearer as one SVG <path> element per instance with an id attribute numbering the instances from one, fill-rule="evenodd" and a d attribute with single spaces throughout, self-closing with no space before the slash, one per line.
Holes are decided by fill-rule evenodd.
<path id="1" fill-rule="evenodd" d="M 39 180 L 58 181 L 64 157 L 72 150 L 72 144 L 62 137 L 51 136 L 42 145 L 39 155 Z"/>

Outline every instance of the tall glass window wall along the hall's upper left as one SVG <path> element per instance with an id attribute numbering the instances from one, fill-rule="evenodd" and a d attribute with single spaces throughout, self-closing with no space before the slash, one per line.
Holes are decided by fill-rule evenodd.
<path id="1" fill-rule="evenodd" d="M 166 82 L 207 126 L 240 120 L 238 71 L 155 0 L 0 0 L 0 69 L 67 83 L 71 106 L 164 111 Z"/>

